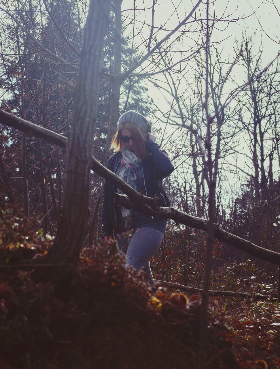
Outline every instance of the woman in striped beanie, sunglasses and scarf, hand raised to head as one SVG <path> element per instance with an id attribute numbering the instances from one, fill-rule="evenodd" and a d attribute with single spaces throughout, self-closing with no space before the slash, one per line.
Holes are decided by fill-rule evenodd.
<path id="1" fill-rule="evenodd" d="M 160 206 L 170 206 L 162 179 L 169 176 L 174 167 L 167 153 L 159 148 L 151 134 L 151 124 L 143 115 L 133 110 L 121 115 L 111 148 L 116 152 L 108 159 L 108 169 L 137 192 L 149 197 L 158 194 Z M 126 266 L 144 268 L 148 282 L 154 284 L 149 260 L 160 246 L 167 220 L 117 206 L 115 192 L 122 193 L 105 180 L 101 207 L 103 241 L 109 245 L 113 235 L 134 229 L 130 240 L 118 241 L 118 249 L 126 255 Z"/>

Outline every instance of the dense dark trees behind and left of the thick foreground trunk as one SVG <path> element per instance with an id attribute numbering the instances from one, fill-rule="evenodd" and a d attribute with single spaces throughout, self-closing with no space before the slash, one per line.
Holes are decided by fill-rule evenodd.
<path id="1" fill-rule="evenodd" d="M 13 5 L 3 3 L 2 7 L 1 108 L 69 137 L 88 7 L 63 0 L 28 4 L 18 1 Z M 108 61 L 110 68 L 114 64 L 114 60 L 110 60 L 114 50 L 110 33 L 112 17 L 111 14 L 102 50 L 104 64 Z M 111 99 L 109 74 L 103 70 L 104 78 L 98 89 L 94 154 L 101 161 L 104 161 Z M 134 92 L 135 99 L 130 100 Z M 145 107 L 140 103 L 142 93 L 145 87 L 138 81 L 124 84 L 125 106 Z M 130 98 L 126 99 L 126 95 Z M 17 202 L 23 203 L 25 215 L 39 216 L 44 234 L 56 234 L 64 195 L 65 150 L 42 144 L 41 140 L 25 134 L 19 135 L 7 127 L 2 130 L 1 140 L 5 148 L 3 165 L 10 177 L 10 190 L 7 191 L 6 185 L 1 188 L 2 201 L 12 201 L 15 197 Z M 100 177 L 93 173 L 90 182 L 90 206 L 94 210 Z"/>

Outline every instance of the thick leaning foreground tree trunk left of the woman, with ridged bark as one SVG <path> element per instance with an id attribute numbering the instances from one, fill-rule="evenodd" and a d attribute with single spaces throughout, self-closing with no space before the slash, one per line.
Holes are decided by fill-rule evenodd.
<path id="1" fill-rule="evenodd" d="M 92 0 L 87 15 L 80 71 L 74 95 L 73 123 L 66 148 L 66 180 L 61 224 L 54 244 L 43 259 L 44 263 L 57 266 L 55 269 L 40 268 L 35 275 L 53 282 L 67 279 L 75 269 L 89 227 L 91 153 L 110 4 L 110 0 Z"/>

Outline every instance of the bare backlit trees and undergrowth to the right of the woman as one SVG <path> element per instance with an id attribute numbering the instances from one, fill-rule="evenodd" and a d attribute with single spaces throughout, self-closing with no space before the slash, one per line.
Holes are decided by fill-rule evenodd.
<path id="1" fill-rule="evenodd" d="M 222 51 L 216 46 L 210 46 L 209 55 L 208 108 L 213 117 L 211 141 L 213 177 L 217 181 L 217 222 L 233 234 L 257 244 L 259 240 L 263 247 L 278 251 L 279 58 L 266 68 L 261 52 L 257 53 L 258 57 L 252 54 L 251 39 L 245 41 L 244 38 L 240 44 L 236 42 L 234 49 L 231 61 L 223 60 Z M 174 148 L 177 168 L 173 186 L 178 189 L 177 196 L 173 197 L 174 204 L 184 211 L 187 208 L 191 214 L 207 217 L 208 173 L 205 153 L 201 149 L 206 139 L 207 122 L 204 54 L 201 52 L 195 60 L 193 80 L 187 75 L 170 75 L 168 82 L 157 82 L 157 85 L 172 99 L 169 123 L 174 128 L 169 142 Z M 167 252 L 169 246 L 165 243 L 167 265 L 174 261 L 174 265 L 180 266 L 173 269 L 174 273 L 180 270 L 185 280 L 194 260 L 199 262 L 197 268 L 201 265 L 205 239 L 196 230 L 184 231 L 180 227 L 177 232 L 173 239 L 178 246 L 174 247 L 174 241 L 172 253 Z M 225 250 L 221 257 L 226 261 L 240 261 L 246 257 L 243 252 L 229 247 Z M 184 262 L 186 255 L 190 258 L 187 263 Z M 161 251 L 158 258 L 161 258 Z M 165 265 L 160 265 L 165 270 Z"/>

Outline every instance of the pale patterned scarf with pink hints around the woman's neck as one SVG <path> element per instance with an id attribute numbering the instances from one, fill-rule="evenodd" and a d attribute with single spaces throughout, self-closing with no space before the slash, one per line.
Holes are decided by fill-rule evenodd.
<path id="1" fill-rule="evenodd" d="M 129 186 L 131 186 L 135 191 L 137 191 L 137 177 L 136 172 L 142 162 L 142 159 L 137 158 L 137 156 L 130 151 L 125 145 L 121 150 L 121 171 L 119 177 L 124 180 Z M 118 189 L 118 193 L 123 194 L 123 192 Z M 121 207 L 122 218 L 124 219 L 125 228 L 129 228 L 131 223 L 134 221 L 134 210 L 127 209 L 124 206 Z"/>

